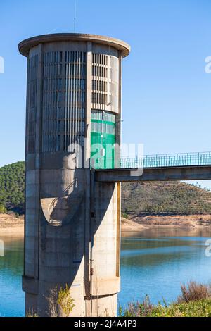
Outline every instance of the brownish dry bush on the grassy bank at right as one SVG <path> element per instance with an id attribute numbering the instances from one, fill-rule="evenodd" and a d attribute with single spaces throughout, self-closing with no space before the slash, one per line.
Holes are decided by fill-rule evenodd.
<path id="1" fill-rule="evenodd" d="M 181 284 L 181 295 L 177 299 L 177 303 L 198 301 L 208 299 L 211 296 L 210 286 L 203 285 L 198 282 L 188 282 L 188 285 Z"/>

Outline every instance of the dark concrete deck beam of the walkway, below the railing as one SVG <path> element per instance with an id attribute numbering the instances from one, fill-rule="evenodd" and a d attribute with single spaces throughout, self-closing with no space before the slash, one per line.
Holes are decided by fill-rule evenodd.
<path id="1" fill-rule="evenodd" d="M 210 180 L 211 165 L 185 167 L 144 168 L 143 175 L 136 176 L 136 169 L 96 170 L 97 182 L 152 182 L 162 180 Z"/>

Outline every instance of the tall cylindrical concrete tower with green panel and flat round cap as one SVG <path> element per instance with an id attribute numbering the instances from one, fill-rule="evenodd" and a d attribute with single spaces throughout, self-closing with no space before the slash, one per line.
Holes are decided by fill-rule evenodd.
<path id="1" fill-rule="evenodd" d="M 122 58 L 98 35 L 32 37 L 27 56 L 26 312 L 49 316 L 51 289 L 70 287 L 71 316 L 115 316 L 120 291 L 120 185 L 91 168 L 118 167 Z M 90 161 L 91 160 L 91 161 Z"/>

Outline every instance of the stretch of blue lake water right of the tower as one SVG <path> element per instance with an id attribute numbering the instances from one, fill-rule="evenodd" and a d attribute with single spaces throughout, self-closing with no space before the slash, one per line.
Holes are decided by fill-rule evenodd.
<path id="1" fill-rule="evenodd" d="M 120 304 L 141 300 L 177 299 L 189 280 L 211 282 L 211 258 L 205 242 L 211 229 L 153 228 L 122 234 Z"/>

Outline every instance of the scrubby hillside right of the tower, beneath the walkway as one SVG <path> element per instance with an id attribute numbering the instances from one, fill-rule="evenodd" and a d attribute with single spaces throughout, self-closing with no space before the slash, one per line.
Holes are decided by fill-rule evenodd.
<path id="1" fill-rule="evenodd" d="M 122 213 L 211 213 L 211 192 L 184 182 L 125 182 Z"/>

